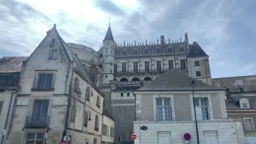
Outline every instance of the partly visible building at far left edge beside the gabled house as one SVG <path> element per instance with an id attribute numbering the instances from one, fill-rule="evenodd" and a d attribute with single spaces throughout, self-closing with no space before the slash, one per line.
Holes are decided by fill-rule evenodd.
<path id="1" fill-rule="evenodd" d="M 0 59 L 0 142 L 8 133 L 11 112 L 18 92 L 22 61 L 27 57 L 3 57 Z"/>

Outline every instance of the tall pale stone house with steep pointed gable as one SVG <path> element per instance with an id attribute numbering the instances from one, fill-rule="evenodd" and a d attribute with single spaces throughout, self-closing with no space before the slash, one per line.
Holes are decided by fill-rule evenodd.
<path id="1" fill-rule="evenodd" d="M 101 143 L 103 96 L 56 25 L 22 64 L 18 87 L 6 143 Z"/>

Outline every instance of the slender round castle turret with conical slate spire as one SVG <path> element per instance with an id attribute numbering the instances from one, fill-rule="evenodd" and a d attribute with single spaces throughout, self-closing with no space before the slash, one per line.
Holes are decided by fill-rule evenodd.
<path id="1" fill-rule="evenodd" d="M 114 56 L 115 56 L 115 40 L 110 28 L 103 39 L 103 80 L 102 84 L 109 83 L 109 80 L 114 80 Z"/>

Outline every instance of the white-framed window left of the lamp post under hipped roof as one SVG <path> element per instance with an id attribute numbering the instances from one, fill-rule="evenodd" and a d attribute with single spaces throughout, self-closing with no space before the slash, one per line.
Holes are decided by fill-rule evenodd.
<path id="1" fill-rule="evenodd" d="M 158 121 L 171 121 L 171 100 L 170 98 L 156 99 Z"/>

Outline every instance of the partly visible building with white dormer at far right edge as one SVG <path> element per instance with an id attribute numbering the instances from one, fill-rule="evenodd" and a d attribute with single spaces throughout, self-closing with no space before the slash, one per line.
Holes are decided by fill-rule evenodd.
<path id="1" fill-rule="evenodd" d="M 256 75 L 216 78 L 212 83 L 226 90 L 228 118 L 242 119 L 246 142 L 256 143 Z"/>

